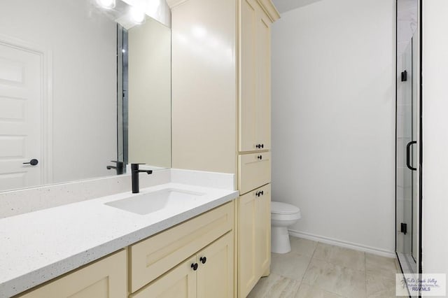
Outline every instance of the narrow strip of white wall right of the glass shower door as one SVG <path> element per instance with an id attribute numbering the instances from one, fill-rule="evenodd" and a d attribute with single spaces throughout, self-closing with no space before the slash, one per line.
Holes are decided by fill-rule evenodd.
<path id="1" fill-rule="evenodd" d="M 423 1 L 423 273 L 448 274 L 447 15 Z"/>

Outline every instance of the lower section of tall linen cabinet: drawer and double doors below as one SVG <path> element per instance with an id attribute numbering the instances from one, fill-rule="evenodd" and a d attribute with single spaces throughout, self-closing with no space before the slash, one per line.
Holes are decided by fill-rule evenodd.
<path id="1" fill-rule="evenodd" d="M 270 152 L 238 157 L 238 293 L 246 297 L 269 274 L 271 256 Z"/>

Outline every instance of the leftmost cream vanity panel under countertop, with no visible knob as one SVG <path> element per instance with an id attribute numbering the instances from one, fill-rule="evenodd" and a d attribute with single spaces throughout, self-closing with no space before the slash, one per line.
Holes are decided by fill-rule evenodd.
<path id="1" fill-rule="evenodd" d="M 20 297 L 124 298 L 127 296 L 126 258 L 122 250 Z"/>

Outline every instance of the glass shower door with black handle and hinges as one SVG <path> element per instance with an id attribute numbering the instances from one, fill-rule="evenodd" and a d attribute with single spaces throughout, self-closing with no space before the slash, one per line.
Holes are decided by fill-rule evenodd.
<path id="1" fill-rule="evenodd" d="M 404 273 L 417 272 L 419 257 L 418 84 L 414 37 L 397 59 L 396 251 Z"/>

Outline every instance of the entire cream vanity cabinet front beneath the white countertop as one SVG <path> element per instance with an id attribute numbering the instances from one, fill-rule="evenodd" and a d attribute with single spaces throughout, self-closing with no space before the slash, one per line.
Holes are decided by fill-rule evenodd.
<path id="1" fill-rule="evenodd" d="M 232 298 L 234 225 L 230 201 L 18 297 Z"/>

